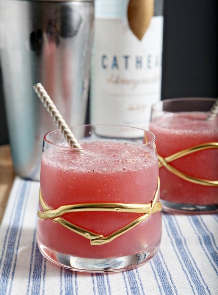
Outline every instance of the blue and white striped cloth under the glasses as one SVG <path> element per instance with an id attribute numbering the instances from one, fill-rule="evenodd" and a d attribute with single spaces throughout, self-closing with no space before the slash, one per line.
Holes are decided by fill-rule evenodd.
<path id="1" fill-rule="evenodd" d="M 79 273 L 45 260 L 36 243 L 39 183 L 16 178 L 0 228 L 0 294 L 218 294 L 216 215 L 162 214 L 159 253 L 120 273 Z"/>

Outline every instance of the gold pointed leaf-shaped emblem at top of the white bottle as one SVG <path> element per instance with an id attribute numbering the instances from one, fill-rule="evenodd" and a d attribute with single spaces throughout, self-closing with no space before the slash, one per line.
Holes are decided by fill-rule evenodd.
<path id="1" fill-rule="evenodd" d="M 127 18 L 131 31 L 141 41 L 154 15 L 154 0 L 130 0 Z"/>

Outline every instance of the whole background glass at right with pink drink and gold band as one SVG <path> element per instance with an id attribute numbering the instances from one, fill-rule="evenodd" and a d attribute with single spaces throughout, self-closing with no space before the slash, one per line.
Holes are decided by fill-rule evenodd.
<path id="1" fill-rule="evenodd" d="M 176 99 L 153 106 L 150 130 L 157 137 L 161 200 L 167 211 L 217 209 L 218 118 L 207 120 L 209 113 L 203 112 L 213 101 Z M 172 112 L 167 111 L 169 107 Z M 179 155 L 174 159 L 168 158 L 176 153 Z"/>

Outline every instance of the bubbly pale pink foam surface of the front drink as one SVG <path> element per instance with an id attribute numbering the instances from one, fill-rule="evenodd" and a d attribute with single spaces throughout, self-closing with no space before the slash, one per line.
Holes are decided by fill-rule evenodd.
<path id="1" fill-rule="evenodd" d="M 61 145 L 61 147 L 60 147 Z M 145 146 L 118 140 L 80 141 L 84 153 L 67 148 L 62 142 L 43 153 L 43 163 L 63 171 L 118 172 L 138 170 L 156 164 L 154 152 Z M 138 165 L 140 163 L 140 165 Z"/>

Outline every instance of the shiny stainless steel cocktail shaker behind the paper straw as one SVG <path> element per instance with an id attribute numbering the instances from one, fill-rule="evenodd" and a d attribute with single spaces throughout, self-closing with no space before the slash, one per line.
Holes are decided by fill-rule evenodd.
<path id="1" fill-rule="evenodd" d="M 94 0 L 0 0 L 0 58 L 15 173 L 39 179 L 43 135 L 56 125 L 41 82 L 69 126 L 84 124 Z"/>

